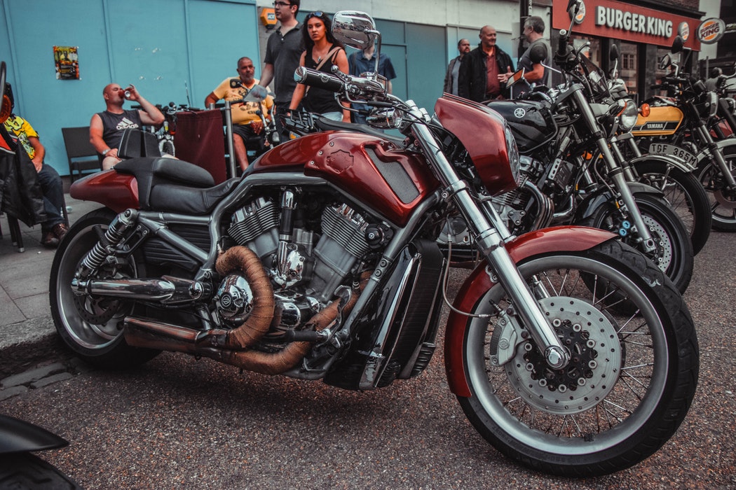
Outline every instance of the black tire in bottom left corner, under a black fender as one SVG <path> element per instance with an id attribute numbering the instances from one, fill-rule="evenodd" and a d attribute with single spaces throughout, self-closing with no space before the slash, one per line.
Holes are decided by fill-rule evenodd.
<path id="1" fill-rule="evenodd" d="M 38 456 L 18 453 L 0 455 L 0 489 L 77 490 L 82 487 Z"/>

